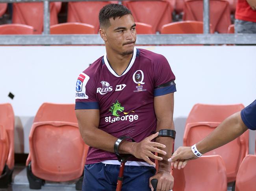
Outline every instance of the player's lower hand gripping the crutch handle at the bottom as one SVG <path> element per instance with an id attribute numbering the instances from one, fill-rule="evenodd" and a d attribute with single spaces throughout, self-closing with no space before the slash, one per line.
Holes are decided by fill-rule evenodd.
<path id="1" fill-rule="evenodd" d="M 173 189 L 173 182 L 174 178 L 171 175 L 171 173 L 167 171 L 159 171 L 156 175 L 152 176 L 149 178 L 149 187 L 151 188 L 152 191 L 154 191 L 151 180 L 153 178 L 156 178 L 158 180 L 158 184 L 156 187 L 157 191 L 169 191 Z"/>

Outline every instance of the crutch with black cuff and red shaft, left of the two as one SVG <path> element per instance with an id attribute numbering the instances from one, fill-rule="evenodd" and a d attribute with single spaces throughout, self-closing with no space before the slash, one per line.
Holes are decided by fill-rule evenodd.
<path id="1" fill-rule="evenodd" d="M 119 145 L 121 144 L 121 142 L 125 139 L 130 139 L 132 140 L 132 142 L 135 142 L 135 140 L 129 136 L 121 136 L 119 139 L 117 139 L 117 141 L 115 142 L 114 145 L 114 152 L 115 155 L 117 155 L 118 161 L 121 162 L 121 166 L 120 166 L 120 170 L 119 170 L 119 175 L 117 178 L 117 189 L 116 191 L 121 191 L 122 189 L 122 181 L 124 179 L 124 165 L 126 163 L 126 161 L 128 160 L 128 158 L 132 155 L 129 154 L 119 154 Z"/>

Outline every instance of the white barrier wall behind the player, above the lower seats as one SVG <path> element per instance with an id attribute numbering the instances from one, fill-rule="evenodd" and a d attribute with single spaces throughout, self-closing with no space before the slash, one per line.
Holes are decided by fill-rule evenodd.
<path id="1" fill-rule="evenodd" d="M 176 147 L 182 145 L 184 123 L 194 104 L 247 106 L 256 99 L 256 46 L 139 48 L 164 55 L 176 76 Z M 15 153 L 29 152 L 28 136 L 40 105 L 74 103 L 78 74 L 104 53 L 104 46 L 0 47 L 0 103 L 11 103 L 15 112 Z"/>

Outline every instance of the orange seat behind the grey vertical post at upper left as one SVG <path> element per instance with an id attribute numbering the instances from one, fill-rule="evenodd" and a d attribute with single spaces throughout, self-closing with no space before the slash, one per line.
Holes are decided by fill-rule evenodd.
<path id="1" fill-rule="evenodd" d="M 50 25 L 58 24 L 55 3 L 50 3 Z M 13 23 L 26 24 L 34 27 L 34 34 L 43 31 L 43 3 L 14 3 Z"/>

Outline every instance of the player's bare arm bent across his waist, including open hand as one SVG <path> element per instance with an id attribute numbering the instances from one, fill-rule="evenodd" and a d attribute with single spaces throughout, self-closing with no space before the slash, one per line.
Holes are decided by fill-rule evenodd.
<path id="1" fill-rule="evenodd" d="M 100 121 L 99 109 L 76 109 L 76 117 L 80 134 L 85 144 L 114 153 L 114 144 L 117 141 L 117 137 L 98 129 Z M 156 136 L 158 136 L 158 133 L 150 135 L 138 143 L 124 141 L 119 147 L 119 153 L 134 155 L 136 158 L 141 158 L 154 165 L 148 157 L 156 160 L 161 160 L 162 158 L 153 155 L 151 152 L 164 154 L 164 151 L 156 147 L 165 147 L 163 144 L 151 142 Z"/>

